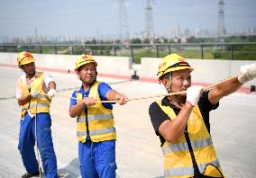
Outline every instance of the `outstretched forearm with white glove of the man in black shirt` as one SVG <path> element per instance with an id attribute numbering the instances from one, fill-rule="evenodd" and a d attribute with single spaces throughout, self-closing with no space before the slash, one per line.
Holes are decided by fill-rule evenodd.
<path id="1" fill-rule="evenodd" d="M 208 99 L 211 103 L 219 102 L 224 96 L 236 92 L 244 83 L 256 77 L 256 63 L 240 68 L 241 75 L 224 81 L 210 90 Z"/>

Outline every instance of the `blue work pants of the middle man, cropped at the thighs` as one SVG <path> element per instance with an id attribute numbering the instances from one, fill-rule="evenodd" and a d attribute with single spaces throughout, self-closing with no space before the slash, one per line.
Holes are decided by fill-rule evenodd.
<path id="1" fill-rule="evenodd" d="M 115 178 L 115 140 L 78 142 L 82 178 Z"/>

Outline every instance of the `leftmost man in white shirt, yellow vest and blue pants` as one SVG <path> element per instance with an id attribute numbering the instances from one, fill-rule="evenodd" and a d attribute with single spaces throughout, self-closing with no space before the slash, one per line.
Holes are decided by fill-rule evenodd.
<path id="1" fill-rule="evenodd" d="M 27 172 L 22 178 L 40 174 L 41 168 L 34 151 L 35 141 L 45 176 L 56 178 L 57 159 L 50 130 L 50 102 L 56 93 L 56 84 L 48 73 L 36 71 L 34 61 L 30 52 L 18 54 L 18 67 L 24 72 L 16 84 L 16 98 L 22 108 L 18 148 Z"/>

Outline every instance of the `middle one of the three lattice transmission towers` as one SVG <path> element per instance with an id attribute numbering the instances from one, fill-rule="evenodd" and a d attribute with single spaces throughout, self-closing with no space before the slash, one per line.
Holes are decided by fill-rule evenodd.
<path id="1" fill-rule="evenodd" d="M 154 24 L 153 24 L 153 8 L 152 8 L 153 0 L 146 0 L 145 5 L 145 30 L 144 36 L 147 39 L 152 40 L 154 34 Z"/>

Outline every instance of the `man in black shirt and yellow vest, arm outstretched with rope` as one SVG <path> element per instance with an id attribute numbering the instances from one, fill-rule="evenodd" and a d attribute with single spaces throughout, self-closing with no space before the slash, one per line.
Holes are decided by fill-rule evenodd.
<path id="1" fill-rule="evenodd" d="M 162 58 L 158 78 L 169 95 L 152 102 L 151 123 L 160 138 L 165 177 L 224 177 L 210 135 L 209 111 L 226 95 L 236 92 L 256 76 L 256 63 L 241 67 L 241 75 L 224 80 L 203 92 L 191 86 L 194 69 L 186 58 L 170 54 Z M 186 95 L 170 93 L 186 92 Z"/>

